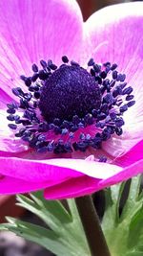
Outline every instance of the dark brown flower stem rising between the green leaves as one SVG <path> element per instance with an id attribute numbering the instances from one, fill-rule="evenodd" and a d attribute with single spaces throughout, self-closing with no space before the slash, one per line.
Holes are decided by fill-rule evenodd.
<path id="1" fill-rule="evenodd" d="M 75 198 L 75 203 L 91 249 L 91 255 L 111 256 L 92 202 L 92 197 Z"/>

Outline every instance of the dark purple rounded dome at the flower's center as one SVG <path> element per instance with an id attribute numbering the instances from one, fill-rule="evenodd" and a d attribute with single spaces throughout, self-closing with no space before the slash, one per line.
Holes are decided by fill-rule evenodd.
<path id="1" fill-rule="evenodd" d="M 54 118 L 72 121 L 83 118 L 101 105 L 101 93 L 92 75 L 79 65 L 61 65 L 45 81 L 41 90 L 39 108 L 47 122 Z"/>

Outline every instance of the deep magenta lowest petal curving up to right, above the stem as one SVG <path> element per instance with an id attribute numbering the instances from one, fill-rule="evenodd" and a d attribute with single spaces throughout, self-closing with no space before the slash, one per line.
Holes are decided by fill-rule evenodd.
<path id="1" fill-rule="evenodd" d="M 73 178 L 57 186 L 46 188 L 44 196 L 47 199 L 82 197 L 118 182 L 127 180 L 133 175 L 138 175 L 139 173 L 143 173 L 143 160 L 128 166 L 122 172 L 117 175 L 112 175 L 112 177 L 108 179 L 94 179 L 86 175 Z"/>

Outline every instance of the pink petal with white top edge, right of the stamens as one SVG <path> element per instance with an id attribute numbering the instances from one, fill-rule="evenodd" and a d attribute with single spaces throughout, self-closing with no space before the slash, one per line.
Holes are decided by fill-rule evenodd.
<path id="1" fill-rule="evenodd" d="M 95 12 L 85 24 L 84 61 L 116 62 L 133 86 L 136 104 L 124 115 L 122 136 L 113 136 L 103 149 L 113 156 L 125 154 L 143 133 L 143 3 L 114 5 Z"/>

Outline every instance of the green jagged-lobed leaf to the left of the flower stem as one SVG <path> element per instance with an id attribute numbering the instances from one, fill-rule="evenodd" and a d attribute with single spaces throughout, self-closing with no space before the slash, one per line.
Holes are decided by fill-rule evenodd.
<path id="1" fill-rule="evenodd" d="M 31 198 L 20 195 L 17 199 L 17 204 L 38 216 L 46 228 L 9 217 L 9 223 L 0 225 L 1 230 L 10 230 L 57 256 L 91 256 L 74 200 L 68 200 L 65 208 L 59 200 L 44 199 L 41 192 L 31 194 Z"/>

